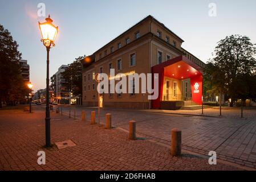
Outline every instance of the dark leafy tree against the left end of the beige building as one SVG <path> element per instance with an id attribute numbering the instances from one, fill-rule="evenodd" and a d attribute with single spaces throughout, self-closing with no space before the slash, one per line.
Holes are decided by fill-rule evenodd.
<path id="1" fill-rule="evenodd" d="M 74 96 L 82 94 L 81 60 L 83 60 L 85 57 L 86 55 L 76 58 L 73 63 L 68 64 L 68 68 L 62 73 L 64 79 L 66 79 L 65 86 L 67 86 L 67 88 L 70 90 L 70 92 L 73 93 Z"/>

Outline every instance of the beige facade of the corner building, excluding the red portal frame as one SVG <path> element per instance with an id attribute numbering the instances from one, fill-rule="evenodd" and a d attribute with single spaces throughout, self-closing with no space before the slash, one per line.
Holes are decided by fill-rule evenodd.
<path id="1" fill-rule="evenodd" d="M 184 40 L 174 34 L 164 24 L 149 15 L 111 42 L 101 47 L 88 60 L 83 60 L 83 105 L 97 106 L 96 73 L 107 73 L 115 69 L 115 74 L 152 73 L 152 67 L 184 56 L 197 67 L 205 64 L 181 47 Z M 198 72 L 199 73 L 199 72 Z M 161 85 L 161 101 L 191 101 L 192 89 L 189 77 L 165 77 Z M 118 82 L 118 81 L 116 81 Z M 140 83 L 141 84 L 141 83 Z M 152 108 L 148 93 L 103 93 L 99 97 L 100 106 L 120 108 Z"/>

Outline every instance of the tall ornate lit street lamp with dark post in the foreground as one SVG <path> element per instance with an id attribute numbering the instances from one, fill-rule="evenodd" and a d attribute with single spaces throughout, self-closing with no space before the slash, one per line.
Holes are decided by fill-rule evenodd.
<path id="1" fill-rule="evenodd" d="M 52 24 L 52 19 L 50 15 L 46 18 L 46 22 L 39 23 L 40 32 L 42 34 L 41 41 L 43 45 L 46 47 L 47 51 L 47 73 L 46 73 L 46 147 L 51 147 L 51 135 L 50 135 L 50 107 L 49 107 L 49 52 L 50 48 L 55 46 L 54 40 L 56 35 L 58 34 L 58 27 Z"/>

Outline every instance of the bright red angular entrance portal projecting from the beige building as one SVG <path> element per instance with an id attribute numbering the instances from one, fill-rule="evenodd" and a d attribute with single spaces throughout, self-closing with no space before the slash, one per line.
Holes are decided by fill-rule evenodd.
<path id="1" fill-rule="evenodd" d="M 151 68 L 152 74 L 159 73 L 159 97 L 156 100 L 152 100 L 152 108 L 160 109 L 160 102 L 163 101 L 164 85 L 166 79 L 173 79 L 178 82 L 190 78 L 191 96 L 192 101 L 195 104 L 202 104 L 202 68 L 193 61 L 189 60 L 185 56 L 178 56 L 174 59 L 167 60 L 164 63 L 155 65 Z M 154 80 L 152 79 L 152 82 Z M 153 85 L 153 84 L 152 84 Z M 166 83 L 168 89 L 165 92 L 169 92 L 169 82 Z M 165 85 L 165 86 L 166 86 Z M 173 85 L 173 94 L 176 96 L 176 101 L 183 101 L 182 97 L 177 97 L 178 84 Z M 182 92 L 180 90 L 180 92 Z M 168 93 L 165 93 L 168 95 Z M 168 97 L 169 98 L 169 97 Z M 178 98 L 178 99 L 177 99 Z"/>

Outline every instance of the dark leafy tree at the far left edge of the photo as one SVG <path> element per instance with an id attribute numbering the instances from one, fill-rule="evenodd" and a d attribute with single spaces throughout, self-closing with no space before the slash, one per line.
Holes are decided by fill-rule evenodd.
<path id="1" fill-rule="evenodd" d="M 28 89 L 21 76 L 21 53 L 10 32 L 0 24 L 0 107 L 2 101 L 15 102 L 24 99 Z"/>

